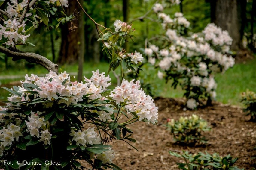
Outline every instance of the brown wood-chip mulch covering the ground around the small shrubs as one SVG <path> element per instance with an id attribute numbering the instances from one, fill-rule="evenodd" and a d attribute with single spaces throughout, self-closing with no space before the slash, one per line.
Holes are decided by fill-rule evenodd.
<path id="1" fill-rule="evenodd" d="M 187 150 L 191 153 L 205 152 L 210 154 L 218 152 L 220 156 L 230 154 L 239 157 L 235 166 L 244 169 L 256 167 L 256 123 L 248 121 L 242 109 L 236 106 L 214 103 L 211 107 L 196 111 L 184 111 L 180 105 L 182 99 L 157 98 L 155 103 L 159 107 L 158 125 L 147 125 L 145 122 L 136 122 L 128 128 L 132 129 L 133 143 L 140 152 L 133 149 L 123 141 L 112 142 L 116 158 L 113 163 L 123 170 L 146 169 L 178 169 L 176 162 L 179 158 L 169 155 L 168 151 Z M 173 142 L 172 135 L 166 131 L 163 124 L 167 118 L 178 119 L 180 116 L 189 116 L 193 113 L 207 120 L 212 127 L 211 132 L 205 133 L 209 139 L 206 145 L 187 147 Z"/>

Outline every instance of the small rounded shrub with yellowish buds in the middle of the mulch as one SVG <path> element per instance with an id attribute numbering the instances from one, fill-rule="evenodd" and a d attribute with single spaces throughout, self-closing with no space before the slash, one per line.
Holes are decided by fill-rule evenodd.
<path id="1" fill-rule="evenodd" d="M 207 122 L 193 114 L 189 117 L 181 116 L 178 120 L 169 119 L 165 125 L 173 135 L 175 142 L 195 145 L 197 142 L 206 143 L 202 132 L 211 130 Z"/>

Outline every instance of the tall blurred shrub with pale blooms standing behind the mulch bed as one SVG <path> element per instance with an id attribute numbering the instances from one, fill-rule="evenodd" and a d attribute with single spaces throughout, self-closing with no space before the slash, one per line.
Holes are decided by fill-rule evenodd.
<path id="1" fill-rule="evenodd" d="M 174 88 L 179 84 L 185 90 L 187 108 L 195 109 L 203 104 L 200 99 L 208 99 L 207 104 L 210 104 L 216 97 L 214 73 L 224 72 L 234 65 L 234 59 L 229 56 L 231 37 L 213 23 L 200 33 L 190 33 L 190 22 L 183 13 L 177 12 L 171 18 L 162 12 L 163 5 L 160 5 L 155 4 L 153 10 L 165 34 L 151 39 L 154 43 L 159 39 L 156 44 L 162 45 L 148 43 L 144 50 L 148 62 L 162 70 L 159 78 L 172 80 Z"/>

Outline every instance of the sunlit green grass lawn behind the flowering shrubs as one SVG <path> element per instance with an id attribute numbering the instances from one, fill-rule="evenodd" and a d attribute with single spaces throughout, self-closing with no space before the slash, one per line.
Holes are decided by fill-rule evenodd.
<path id="1" fill-rule="evenodd" d="M 63 66 L 59 66 L 59 68 L 62 68 L 63 71 L 66 70 L 67 73 L 74 73 L 74 74 L 71 74 L 73 76 L 77 75 L 78 66 L 76 64 L 63 65 Z M 228 69 L 227 72 L 216 74 L 215 78 L 218 84 L 217 90 L 216 90 L 217 101 L 225 104 L 234 104 L 234 105 L 242 106 L 239 102 L 241 92 L 246 91 L 246 89 L 256 92 L 255 68 L 256 68 L 256 59 L 249 60 L 246 63 L 235 64 L 235 66 L 233 68 Z M 99 69 L 100 72 L 107 73 L 108 63 L 104 63 L 104 62 L 99 64 L 84 63 L 83 74 L 86 77 L 90 77 L 92 75 L 91 71 L 92 70 L 96 71 L 97 69 Z M 152 72 L 151 71 L 145 74 L 147 74 L 150 79 L 153 79 L 153 81 L 158 84 L 158 88 L 160 89 L 159 90 L 160 96 L 171 97 L 171 98 L 183 97 L 184 92 L 181 90 L 179 86 L 177 87 L 177 89 L 173 89 L 171 87 L 171 82 L 168 82 L 168 84 L 166 84 L 164 80 L 160 80 L 157 78 L 156 75 L 152 74 L 152 72 L 154 71 Z M 3 74 L 1 74 L 1 76 L 20 75 L 20 78 L 15 78 L 15 79 L 6 78 L 3 80 L 0 80 L 0 82 L 2 84 L 8 84 L 13 81 L 19 81 L 22 78 L 24 78 L 25 74 L 30 75 L 31 73 L 37 74 L 37 75 L 43 75 L 47 73 L 47 70 L 41 66 L 35 66 L 32 69 L 22 69 L 22 70 L 8 69 Z M 114 77 L 114 74 L 112 72 L 110 72 L 109 74 L 113 84 L 112 88 L 114 88 L 114 85 L 116 84 L 116 78 Z M 154 75 L 154 78 L 152 78 L 152 75 Z M 1 88 L 0 100 L 5 100 L 7 96 L 8 96 L 8 93 Z"/>

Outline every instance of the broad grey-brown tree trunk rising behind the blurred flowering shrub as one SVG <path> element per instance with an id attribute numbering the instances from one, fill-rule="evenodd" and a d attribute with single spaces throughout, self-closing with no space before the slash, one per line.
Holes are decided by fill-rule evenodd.
<path id="1" fill-rule="evenodd" d="M 239 5 L 239 6 L 238 6 Z M 239 0 L 212 0 L 211 1 L 211 16 L 212 22 L 223 30 L 227 30 L 230 37 L 233 39 L 233 43 L 230 49 L 238 51 L 241 45 L 242 29 L 242 13 L 241 3 Z"/>

